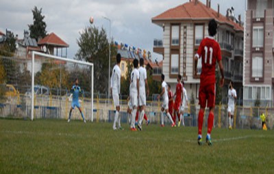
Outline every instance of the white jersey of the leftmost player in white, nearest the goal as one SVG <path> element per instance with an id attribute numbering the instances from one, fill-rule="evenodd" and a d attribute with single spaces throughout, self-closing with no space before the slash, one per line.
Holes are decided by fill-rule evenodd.
<path id="1" fill-rule="evenodd" d="M 112 76 L 110 78 L 110 87 L 112 87 L 112 93 L 120 93 L 121 89 L 121 70 L 119 66 L 115 65 L 112 70 Z"/>

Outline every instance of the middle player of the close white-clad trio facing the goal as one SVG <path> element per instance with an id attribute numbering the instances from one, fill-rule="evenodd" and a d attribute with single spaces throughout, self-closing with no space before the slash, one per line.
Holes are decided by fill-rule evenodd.
<path id="1" fill-rule="evenodd" d="M 138 71 L 138 60 L 134 59 L 133 61 L 134 70 L 132 70 L 132 74 L 130 75 L 130 87 L 129 87 L 129 98 L 132 104 L 132 124 L 130 125 L 130 130 L 136 131 L 135 128 L 135 117 L 138 106 L 138 97 L 139 97 L 139 71 Z"/>

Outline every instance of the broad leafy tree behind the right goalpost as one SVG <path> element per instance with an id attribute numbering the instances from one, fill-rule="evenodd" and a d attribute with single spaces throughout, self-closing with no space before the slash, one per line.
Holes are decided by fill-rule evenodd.
<path id="1" fill-rule="evenodd" d="M 75 57 L 78 60 L 92 62 L 94 65 L 95 92 L 108 92 L 108 61 L 109 42 L 105 29 L 97 27 L 86 27 L 77 40 L 79 50 Z M 111 57 L 116 57 L 116 47 L 112 41 Z M 114 59 L 111 65 L 113 65 Z M 110 67 L 112 68 L 112 66 Z M 111 76 L 111 74 L 110 74 Z"/>

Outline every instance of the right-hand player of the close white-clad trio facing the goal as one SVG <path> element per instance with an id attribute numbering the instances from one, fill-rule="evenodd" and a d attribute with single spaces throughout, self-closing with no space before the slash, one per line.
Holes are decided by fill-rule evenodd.
<path id="1" fill-rule="evenodd" d="M 149 84 L 147 83 L 147 70 L 143 67 L 144 59 L 140 59 L 140 68 L 138 69 L 140 79 L 139 79 L 139 107 L 140 107 L 140 118 L 138 122 L 138 129 L 142 130 L 142 119 L 144 119 L 145 115 L 145 106 L 146 106 L 146 88 L 147 88 L 147 96 L 149 96 Z"/>

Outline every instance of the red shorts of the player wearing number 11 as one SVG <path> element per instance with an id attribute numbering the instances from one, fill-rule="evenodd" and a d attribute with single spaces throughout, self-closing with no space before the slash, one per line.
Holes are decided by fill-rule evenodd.
<path id="1" fill-rule="evenodd" d="M 199 88 L 199 104 L 202 108 L 206 108 L 207 100 L 209 108 L 215 106 L 215 83 L 201 85 Z"/>

